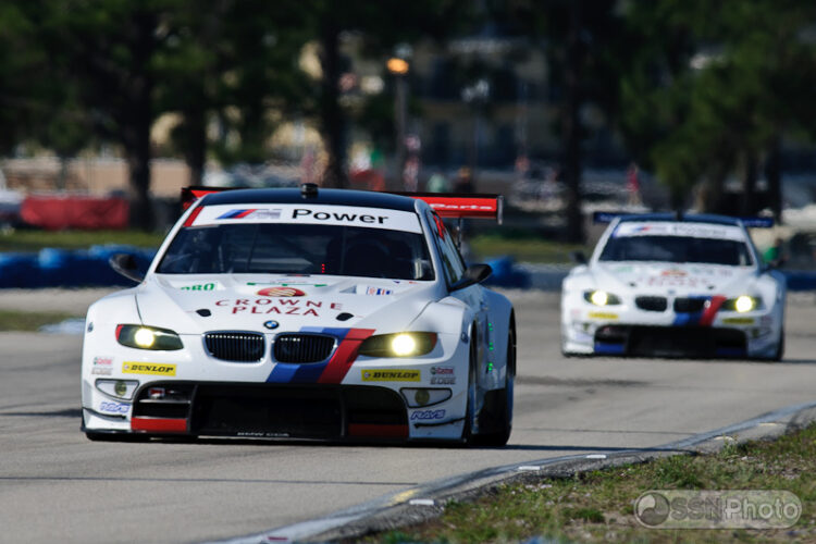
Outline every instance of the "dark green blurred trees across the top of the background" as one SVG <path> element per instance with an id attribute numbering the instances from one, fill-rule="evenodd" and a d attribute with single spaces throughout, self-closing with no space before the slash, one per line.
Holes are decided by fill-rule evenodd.
<path id="1" fill-rule="evenodd" d="M 769 185 L 779 214 L 781 152 L 816 128 L 816 3 L 809 0 L 7 0 L 0 3 L 0 154 L 24 141 L 71 158 L 115 145 L 136 225 L 151 228 L 150 129 L 177 115 L 173 152 L 200 180 L 208 157 L 263 162 L 279 118 L 317 121 L 324 184 L 346 185 L 342 38 L 385 59 L 398 42 L 492 25 L 545 52 L 561 143 L 568 230 L 583 238 L 584 112 L 603 113 L 673 203 L 716 211 L 742 181 L 743 210 Z M 316 44 L 320 79 L 299 65 Z M 212 120 L 238 144 L 210 134 Z"/>

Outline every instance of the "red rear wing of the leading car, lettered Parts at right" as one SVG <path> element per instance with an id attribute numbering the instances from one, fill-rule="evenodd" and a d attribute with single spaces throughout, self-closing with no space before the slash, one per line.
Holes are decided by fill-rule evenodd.
<path id="1" fill-rule="evenodd" d="M 183 187 L 182 210 L 187 210 L 193 202 L 209 195 L 231 190 L 234 187 Z M 459 195 L 452 193 L 392 193 L 423 200 L 443 219 L 493 219 L 502 224 L 504 215 L 504 197 L 502 195 Z"/>

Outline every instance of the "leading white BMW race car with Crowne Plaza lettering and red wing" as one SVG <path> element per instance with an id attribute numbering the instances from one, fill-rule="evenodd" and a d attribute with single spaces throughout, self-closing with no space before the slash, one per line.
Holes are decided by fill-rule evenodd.
<path id="1" fill-rule="evenodd" d="M 88 309 L 89 438 L 507 442 L 512 306 L 441 219 L 500 197 L 186 194 L 146 272 L 112 259 L 139 284 Z"/>

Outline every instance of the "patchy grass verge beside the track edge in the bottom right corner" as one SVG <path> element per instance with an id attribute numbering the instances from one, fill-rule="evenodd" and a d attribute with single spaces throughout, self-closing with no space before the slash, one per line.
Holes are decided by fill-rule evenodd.
<path id="1" fill-rule="evenodd" d="M 816 542 L 816 424 L 772 442 L 727 446 L 636 466 L 504 485 L 475 503 L 448 503 L 425 524 L 359 542 Z M 634 499 L 648 490 L 784 490 L 802 500 L 787 530 L 659 530 L 641 527 Z"/>

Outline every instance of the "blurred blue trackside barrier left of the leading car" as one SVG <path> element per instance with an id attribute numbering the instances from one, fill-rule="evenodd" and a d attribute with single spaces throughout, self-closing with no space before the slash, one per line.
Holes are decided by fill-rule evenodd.
<path id="1" fill-rule="evenodd" d="M 131 254 L 147 270 L 154 249 L 92 246 L 87 250 L 45 248 L 37 254 L 0 254 L 0 288 L 131 286 L 108 264 L 114 254 Z"/>

